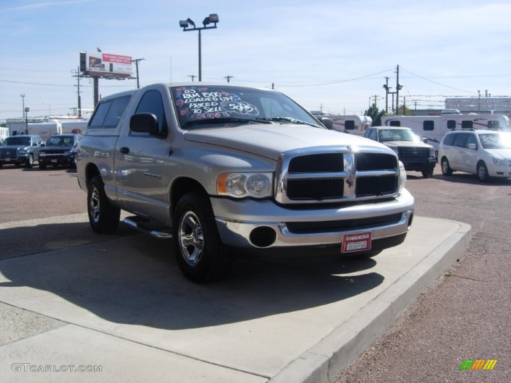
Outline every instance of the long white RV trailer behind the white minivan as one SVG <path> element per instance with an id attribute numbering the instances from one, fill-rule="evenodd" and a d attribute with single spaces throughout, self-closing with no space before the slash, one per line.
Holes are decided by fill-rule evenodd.
<path id="1" fill-rule="evenodd" d="M 382 117 L 382 126 L 403 126 L 415 134 L 427 138 L 427 142 L 438 152 L 442 137 L 451 130 L 496 129 L 511 131 L 509 117 L 492 114 L 442 114 L 439 116 L 389 116 Z"/>

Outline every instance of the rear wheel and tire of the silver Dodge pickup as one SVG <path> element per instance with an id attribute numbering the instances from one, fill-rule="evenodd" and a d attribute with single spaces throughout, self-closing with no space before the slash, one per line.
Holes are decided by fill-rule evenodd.
<path id="1" fill-rule="evenodd" d="M 110 234 L 119 226 L 121 209 L 108 201 L 105 185 L 99 176 L 94 176 L 89 181 L 87 212 L 90 227 L 98 234 Z"/>

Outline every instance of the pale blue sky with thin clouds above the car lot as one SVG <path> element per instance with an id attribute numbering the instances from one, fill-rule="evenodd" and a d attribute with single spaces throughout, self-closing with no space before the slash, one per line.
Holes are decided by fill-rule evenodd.
<path id="1" fill-rule="evenodd" d="M 447 97 L 511 97 L 511 1 L 2 0 L 0 121 L 73 113 L 80 51 L 130 56 L 140 85 L 202 81 L 274 88 L 307 110 L 363 114 L 385 89 L 400 104 L 442 109 Z M 136 77 L 133 65 L 133 77 Z M 388 80 L 386 79 L 388 77 Z M 197 81 L 197 77 L 195 77 Z M 100 95 L 136 80 L 99 80 Z M 80 79 L 82 108 L 94 108 Z M 21 97 L 25 94 L 25 97 Z M 392 98 L 388 95 L 388 107 Z"/>

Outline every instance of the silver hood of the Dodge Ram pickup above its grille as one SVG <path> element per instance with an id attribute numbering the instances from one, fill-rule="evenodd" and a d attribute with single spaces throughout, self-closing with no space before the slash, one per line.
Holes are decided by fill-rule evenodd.
<path id="1" fill-rule="evenodd" d="M 240 150 L 275 161 L 282 152 L 314 146 L 345 147 L 350 145 L 352 147 L 386 148 L 378 142 L 352 134 L 289 124 L 258 124 L 189 130 L 184 133 L 184 139 Z"/>

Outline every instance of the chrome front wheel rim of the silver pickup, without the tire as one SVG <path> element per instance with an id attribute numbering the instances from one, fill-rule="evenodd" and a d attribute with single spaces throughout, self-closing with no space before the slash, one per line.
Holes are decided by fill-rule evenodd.
<path id="1" fill-rule="evenodd" d="M 193 211 L 183 214 L 179 222 L 179 246 L 181 255 L 190 266 L 200 262 L 204 250 L 202 225 Z"/>

